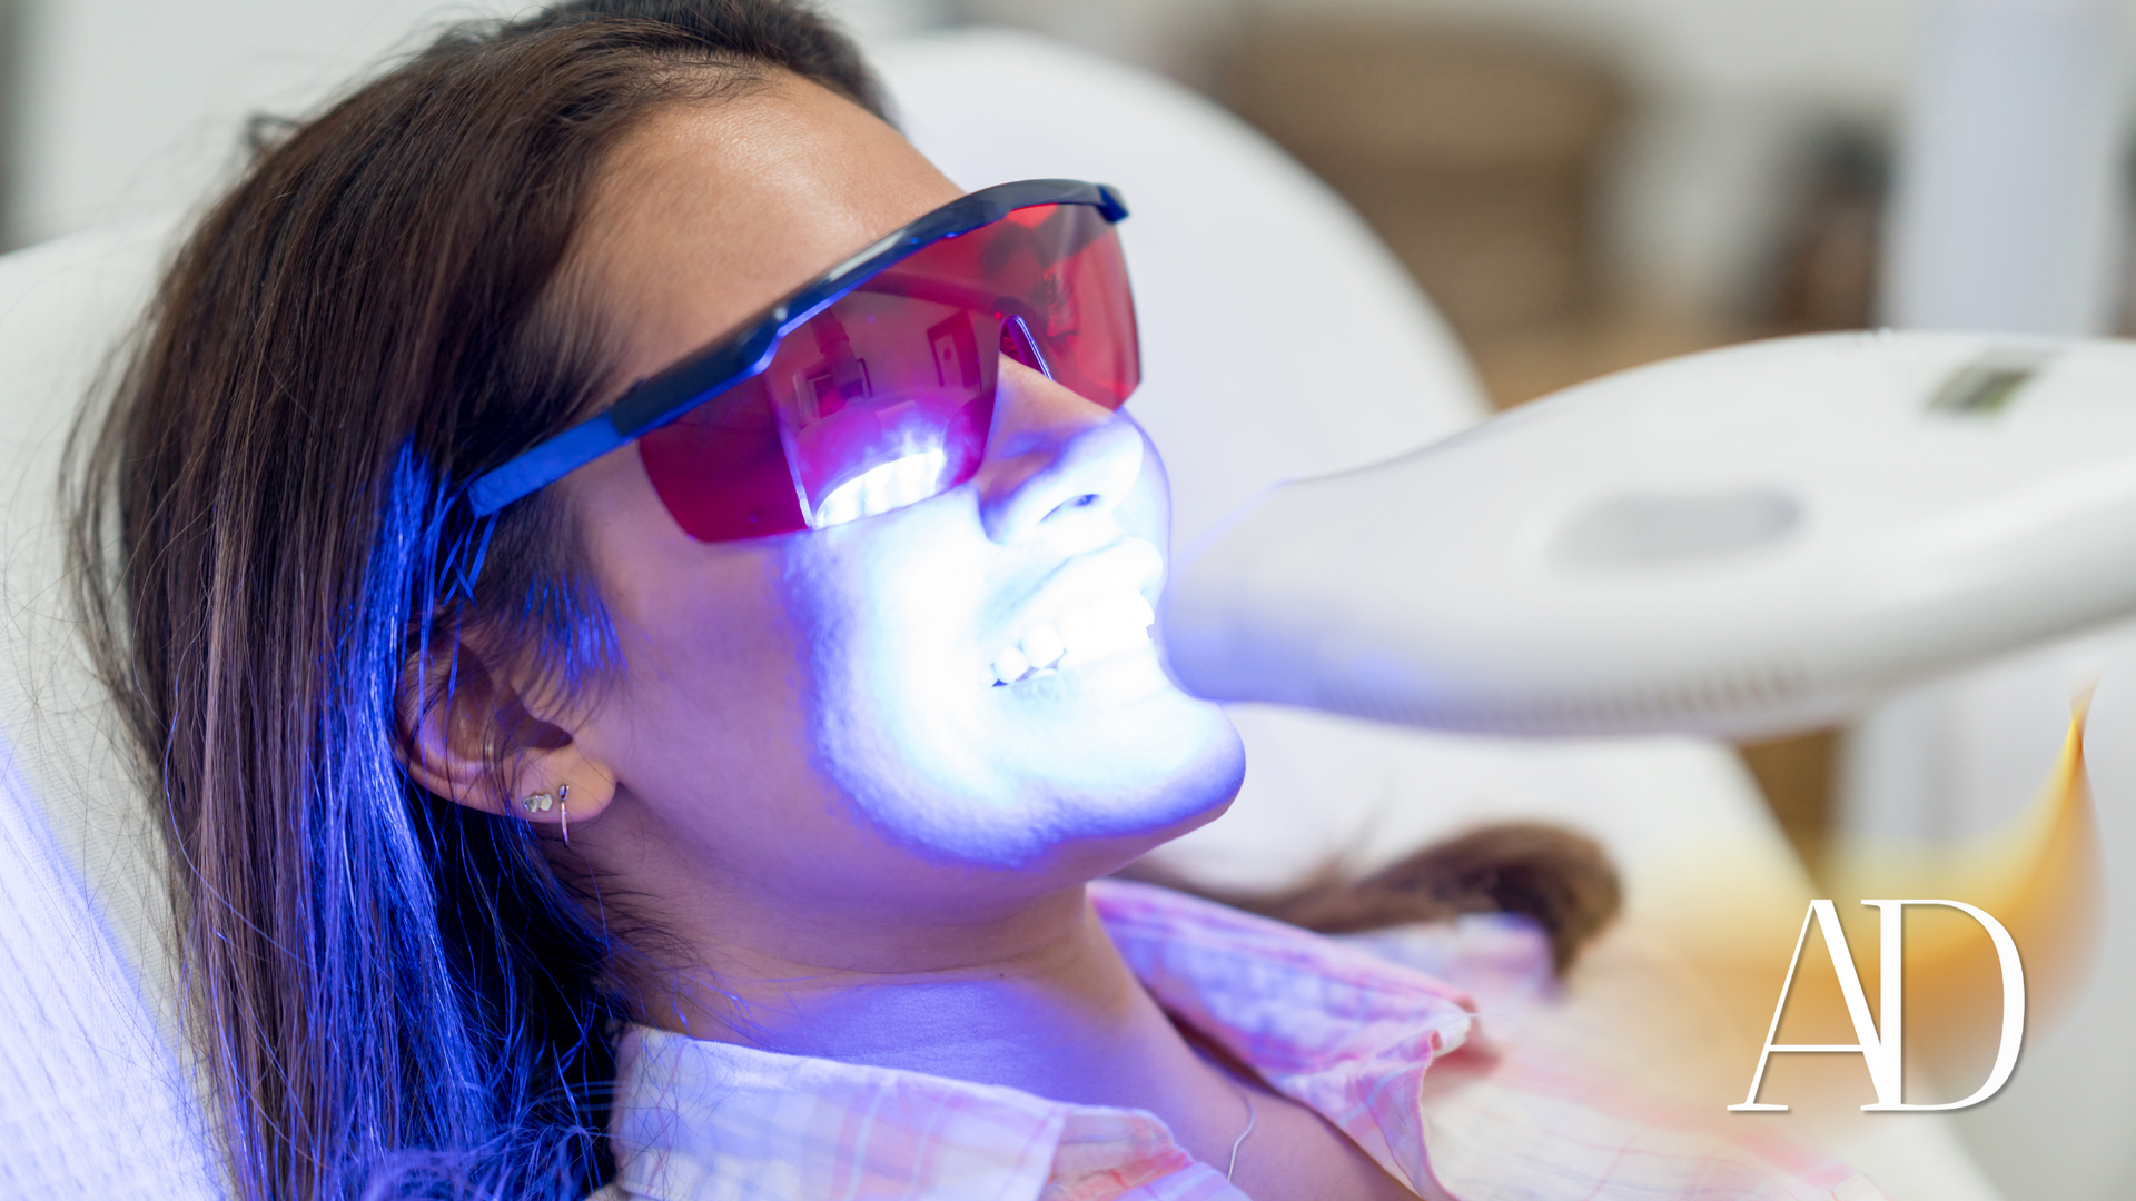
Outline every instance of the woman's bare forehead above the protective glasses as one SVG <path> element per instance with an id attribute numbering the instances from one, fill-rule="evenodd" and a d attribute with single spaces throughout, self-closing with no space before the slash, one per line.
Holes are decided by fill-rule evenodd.
<path id="1" fill-rule="evenodd" d="M 880 118 L 778 71 L 632 130 L 602 165 L 570 271 L 634 378 L 959 194 Z"/>

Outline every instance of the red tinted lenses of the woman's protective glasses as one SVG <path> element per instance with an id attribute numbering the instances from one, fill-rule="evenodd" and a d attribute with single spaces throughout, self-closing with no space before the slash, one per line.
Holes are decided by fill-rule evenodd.
<path id="1" fill-rule="evenodd" d="M 1036 205 L 927 246 L 788 333 L 769 368 L 639 438 L 698 541 L 824 528 L 972 479 L 1000 355 L 1106 408 L 1134 391 L 1134 301 L 1113 227 Z"/>

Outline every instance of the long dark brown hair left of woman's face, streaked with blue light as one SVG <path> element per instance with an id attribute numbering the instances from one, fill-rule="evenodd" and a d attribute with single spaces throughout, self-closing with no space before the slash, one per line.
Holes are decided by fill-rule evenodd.
<path id="1" fill-rule="evenodd" d="M 83 603 L 169 814 L 248 1199 L 577 1197 L 607 1171 L 607 932 L 525 823 L 397 754 L 438 703 L 414 665 L 470 628 L 566 686 L 604 667 L 557 502 L 476 524 L 457 496 L 596 400 L 598 314 L 557 276 L 602 156 L 767 71 L 880 113 L 797 0 L 449 30 L 258 150 L 83 427 Z"/>

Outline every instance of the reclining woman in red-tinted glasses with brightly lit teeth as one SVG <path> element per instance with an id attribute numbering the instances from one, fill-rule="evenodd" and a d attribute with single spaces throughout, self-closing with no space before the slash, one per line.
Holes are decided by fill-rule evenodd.
<path id="1" fill-rule="evenodd" d="M 1119 216 L 961 199 L 788 0 L 261 150 L 77 528 L 241 1195 L 1446 1195 L 1465 998 L 1085 891 L 1243 774 L 1147 643 Z"/>

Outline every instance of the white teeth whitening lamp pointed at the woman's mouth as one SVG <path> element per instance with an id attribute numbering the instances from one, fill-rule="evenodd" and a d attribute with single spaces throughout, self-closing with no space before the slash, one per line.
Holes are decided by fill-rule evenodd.
<path id="1" fill-rule="evenodd" d="M 1839 720 L 2136 611 L 2136 342 L 1784 338 L 1269 489 L 1179 549 L 1173 677 L 1474 733 Z"/>

